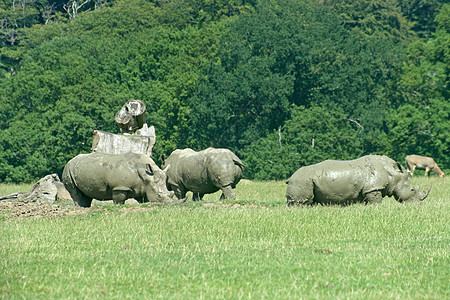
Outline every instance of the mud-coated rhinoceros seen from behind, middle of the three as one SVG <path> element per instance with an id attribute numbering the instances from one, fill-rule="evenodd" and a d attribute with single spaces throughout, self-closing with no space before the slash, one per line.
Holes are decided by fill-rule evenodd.
<path id="1" fill-rule="evenodd" d="M 196 152 L 192 149 L 175 150 L 162 167 L 171 165 L 167 171 L 167 187 L 175 191 L 179 199 L 193 193 L 193 200 L 201 200 L 204 194 L 222 190 L 220 199 L 234 199 L 233 188 L 242 178 L 244 164 L 228 149 L 208 148 Z"/>

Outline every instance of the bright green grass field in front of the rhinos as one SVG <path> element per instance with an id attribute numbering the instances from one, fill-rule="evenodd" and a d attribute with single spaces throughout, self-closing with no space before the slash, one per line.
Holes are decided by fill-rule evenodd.
<path id="1" fill-rule="evenodd" d="M 449 299 L 448 178 L 413 183 L 433 184 L 424 202 L 288 208 L 284 182 L 254 182 L 225 203 L 0 219 L 0 295 Z"/>

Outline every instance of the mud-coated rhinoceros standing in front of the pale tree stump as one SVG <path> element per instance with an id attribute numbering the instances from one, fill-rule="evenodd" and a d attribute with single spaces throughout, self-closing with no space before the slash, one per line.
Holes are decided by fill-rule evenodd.
<path id="1" fill-rule="evenodd" d="M 75 204 L 91 206 L 92 199 L 123 204 L 128 198 L 139 202 L 181 202 L 166 187 L 166 171 L 146 155 L 128 152 L 80 154 L 64 167 L 62 181 Z"/>

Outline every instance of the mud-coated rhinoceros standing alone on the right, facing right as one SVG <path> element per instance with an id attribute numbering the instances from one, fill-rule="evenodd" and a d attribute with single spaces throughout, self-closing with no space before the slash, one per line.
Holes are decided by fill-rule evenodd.
<path id="1" fill-rule="evenodd" d="M 286 183 L 288 205 L 376 203 L 384 196 L 399 202 L 422 201 L 431 188 L 420 192 L 399 163 L 379 155 L 302 167 Z"/>

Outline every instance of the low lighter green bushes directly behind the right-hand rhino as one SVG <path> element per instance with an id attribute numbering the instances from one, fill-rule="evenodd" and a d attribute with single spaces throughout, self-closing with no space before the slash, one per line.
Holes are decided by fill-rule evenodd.
<path id="1" fill-rule="evenodd" d="M 278 132 L 243 151 L 246 176 L 287 179 L 301 166 L 325 159 L 354 159 L 364 153 L 364 129 L 341 111 L 323 107 L 293 109 L 292 119 Z"/>

